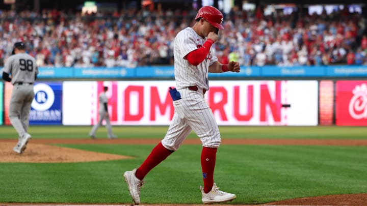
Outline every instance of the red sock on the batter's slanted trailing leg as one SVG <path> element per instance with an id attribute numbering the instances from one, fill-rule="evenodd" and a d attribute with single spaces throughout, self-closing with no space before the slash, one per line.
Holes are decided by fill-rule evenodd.
<path id="1" fill-rule="evenodd" d="M 151 151 L 149 156 L 145 159 L 142 165 L 137 169 L 135 176 L 139 180 L 143 180 L 145 175 L 153 169 L 155 166 L 157 166 L 159 163 L 161 163 L 163 160 L 165 160 L 170 154 L 172 154 L 173 151 L 168 150 L 162 145 L 162 142 L 157 144 L 155 148 Z"/>

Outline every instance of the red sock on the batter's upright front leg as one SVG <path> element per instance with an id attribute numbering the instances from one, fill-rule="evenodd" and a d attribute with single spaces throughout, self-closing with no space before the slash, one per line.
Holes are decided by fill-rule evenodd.
<path id="1" fill-rule="evenodd" d="M 208 193 L 213 188 L 216 155 L 217 148 L 203 147 L 201 151 L 201 168 L 203 172 L 205 193 Z"/>

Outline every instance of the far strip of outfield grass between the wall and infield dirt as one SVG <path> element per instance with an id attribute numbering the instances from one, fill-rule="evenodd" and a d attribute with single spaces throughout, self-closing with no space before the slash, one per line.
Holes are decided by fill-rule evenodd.
<path id="1" fill-rule="evenodd" d="M 89 138 L 90 126 L 31 126 L 32 138 Z M 114 126 L 113 132 L 119 138 L 163 138 L 168 126 Z M 222 126 L 222 138 L 257 138 L 257 139 L 366 139 L 367 127 L 276 127 L 276 126 Z M 11 126 L 0 126 L 0 138 L 17 138 Z M 105 127 L 100 127 L 97 137 L 106 138 Z M 197 138 L 190 133 L 188 138 Z"/>

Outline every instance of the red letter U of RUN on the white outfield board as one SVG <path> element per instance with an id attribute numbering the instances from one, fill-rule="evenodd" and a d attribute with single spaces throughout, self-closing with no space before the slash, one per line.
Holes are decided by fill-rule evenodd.
<path id="1" fill-rule="evenodd" d="M 247 114 L 240 114 L 240 86 L 234 86 L 233 115 L 239 121 L 249 121 L 253 116 L 253 85 L 247 87 Z"/>

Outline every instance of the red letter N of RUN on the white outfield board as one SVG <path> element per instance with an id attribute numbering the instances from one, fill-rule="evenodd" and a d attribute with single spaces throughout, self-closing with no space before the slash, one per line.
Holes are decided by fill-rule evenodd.
<path id="1" fill-rule="evenodd" d="M 267 121 L 267 106 L 269 106 L 275 122 L 280 122 L 281 111 L 281 81 L 275 82 L 275 100 L 272 101 L 267 84 L 260 85 L 260 121 Z"/>

